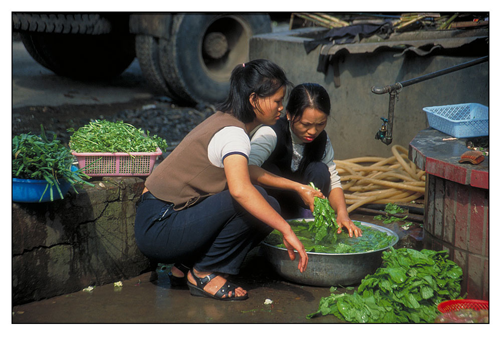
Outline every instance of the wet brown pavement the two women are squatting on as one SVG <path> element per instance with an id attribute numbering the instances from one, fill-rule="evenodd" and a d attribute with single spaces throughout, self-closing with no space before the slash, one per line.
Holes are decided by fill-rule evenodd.
<path id="1" fill-rule="evenodd" d="M 388 227 L 368 215 L 354 214 L 352 219 Z M 398 248 L 399 243 L 395 247 Z M 12 323 L 344 322 L 333 315 L 306 319 L 307 314 L 318 310 L 321 297 L 330 294 L 329 287 L 296 284 L 283 279 L 259 248 L 249 252 L 240 273 L 232 278 L 247 289 L 249 298 L 244 301 L 218 301 L 191 296 L 187 288 L 171 288 L 167 275 L 170 267 L 160 265 L 156 280 L 154 274 L 148 272 L 121 280 L 122 287 L 110 283 L 92 291 L 14 306 Z M 341 291 L 353 292 L 351 289 Z M 273 303 L 265 304 L 266 299 Z"/>

